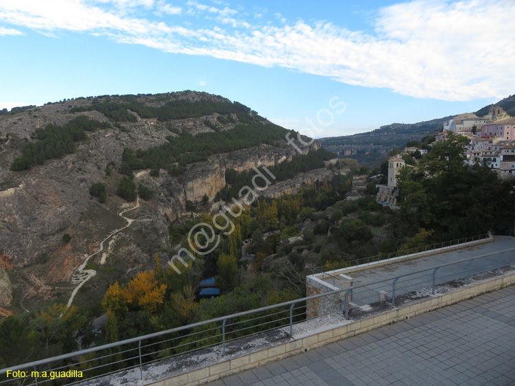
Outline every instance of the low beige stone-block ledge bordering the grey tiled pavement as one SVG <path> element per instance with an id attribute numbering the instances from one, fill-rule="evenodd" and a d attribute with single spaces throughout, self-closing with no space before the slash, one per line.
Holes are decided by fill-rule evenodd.
<path id="1" fill-rule="evenodd" d="M 437 308 L 448 306 L 461 302 L 462 300 L 470 299 L 470 297 L 478 296 L 483 293 L 496 291 L 500 288 L 515 284 L 515 274 L 507 275 L 503 277 L 496 277 L 489 282 L 483 282 L 481 284 L 466 286 L 460 288 L 457 291 L 445 294 L 437 294 L 429 299 L 421 299 L 414 303 L 407 304 L 400 308 L 389 310 L 385 313 L 373 315 L 365 319 L 354 321 L 343 326 L 337 326 L 330 330 L 314 333 L 308 337 L 294 339 L 286 343 L 280 343 L 273 348 L 267 348 L 265 350 L 259 350 L 250 354 L 244 354 L 230 361 L 224 361 L 209 365 L 199 370 L 194 370 L 187 374 L 181 374 L 168 378 L 163 381 L 156 383 L 150 383 L 150 386 L 196 386 L 202 385 L 203 383 L 216 381 L 216 379 L 229 376 L 231 374 L 237 374 L 244 370 L 248 370 L 253 367 L 258 367 L 272 361 L 279 361 L 287 356 L 292 356 L 318 348 L 334 341 L 339 341 L 347 337 L 352 337 L 362 332 L 373 330 L 385 326 L 389 323 L 395 323 L 426 313 Z"/>

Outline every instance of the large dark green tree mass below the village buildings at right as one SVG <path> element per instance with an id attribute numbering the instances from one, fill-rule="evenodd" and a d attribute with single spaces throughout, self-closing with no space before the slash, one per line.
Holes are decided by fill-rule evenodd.
<path id="1" fill-rule="evenodd" d="M 444 241 L 489 231 L 497 212 L 510 202 L 512 185 L 489 168 L 464 163 L 466 137 L 450 134 L 436 144 L 416 168 L 398 174 L 398 232 L 413 237 L 433 229 L 433 240 Z"/>

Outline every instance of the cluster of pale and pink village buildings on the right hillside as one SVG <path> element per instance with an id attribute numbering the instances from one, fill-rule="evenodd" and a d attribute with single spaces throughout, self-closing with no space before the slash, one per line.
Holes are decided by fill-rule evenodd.
<path id="1" fill-rule="evenodd" d="M 515 117 L 511 117 L 501 106 L 490 106 L 488 114 L 483 117 L 478 117 L 474 113 L 464 113 L 444 122 L 443 130 L 435 135 L 433 144 L 445 141 L 448 133 L 463 135 L 470 139 L 464 159 L 468 165 L 481 163 L 491 168 L 501 179 L 507 179 L 514 173 Z M 377 185 L 379 190 L 376 200 L 379 203 L 394 209 L 398 207 L 399 191 L 396 177 L 400 169 L 407 166 L 403 156 L 417 153 L 420 157 L 426 152 L 425 149 L 409 146 L 400 154 L 388 159 L 387 184 Z"/>

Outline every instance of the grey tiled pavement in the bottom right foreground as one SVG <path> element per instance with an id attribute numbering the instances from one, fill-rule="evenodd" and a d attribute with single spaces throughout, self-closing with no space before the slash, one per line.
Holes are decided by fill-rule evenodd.
<path id="1" fill-rule="evenodd" d="M 515 385 L 515 286 L 207 385 Z"/>

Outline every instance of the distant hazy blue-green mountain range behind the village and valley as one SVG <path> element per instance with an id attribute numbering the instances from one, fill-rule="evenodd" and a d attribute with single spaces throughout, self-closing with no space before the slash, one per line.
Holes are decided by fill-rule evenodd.
<path id="1" fill-rule="evenodd" d="M 492 104 L 484 106 L 475 114 L 479 117 L 487 115 L 490 106 Z M 496 102 L 494 106 L 501 106 L 508 114 L 515 116 L 515 95 Z M 452 117 L 454 115 L 416 124 L 394 123 L 367 133 L 327 137 L 319 141 L 324 148 L 340 157 L 353 158 L 367 166 L 378 166 L 392 148 L 402 149 L 409 141 L 420 141 L 428 135 L 435 135 L 442 130 L 444 122 Z"/>

